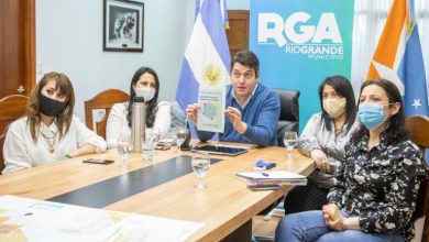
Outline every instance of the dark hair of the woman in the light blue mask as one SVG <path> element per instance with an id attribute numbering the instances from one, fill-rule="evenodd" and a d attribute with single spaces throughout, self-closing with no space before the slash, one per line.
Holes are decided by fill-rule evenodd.
<path id="1" fill-rule="evenodd" d="M 363 82 L 361 87 L 362 90 L 371 85 L 376 85 L 386 92 L 388 98 L 389 107 L 392 107 L 395 102 L 400 103 L 400 109 L 396 114 L 393 114 L 388 118 L 386 122 L 389 122 L 386 130 L 384 130 L 380 135 L 383 138 L 387 144 L 397 144 L 408 138 L 408 132 L 405 130 L 405 114 L 404 114 L 404 103 L 403 98 L 400 97 L 400 92 L 395 84 L 388 81 L 386 79 L 377 79 L 377 80 L 367 80 Z M 365 125 L 361 124 L 360 129 L 353 134 L 352 139 L 355 142 L 362 140 L 363 136 L 369 135 L 370 131 Z"/>

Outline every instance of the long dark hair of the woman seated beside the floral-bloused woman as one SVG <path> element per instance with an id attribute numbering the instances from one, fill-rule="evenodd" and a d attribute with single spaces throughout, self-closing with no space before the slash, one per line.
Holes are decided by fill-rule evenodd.
<path id="1" fill-rule="evenodd" d="M 344 125 L 346 131 L 352 128 L 355 119 L 356 119 L 356 101 L 354 99 L 353 88 L 348 78 L 343 76 L 331 76 L 327 77 L 319 87 L 319 99 L 320 99 L 320 108 L 322 111 L 322 120 L 328 131 L 332 130 L 331 120 L 332 118 L 328 114 L 327 111 L 323 109 L 323 89 L 324 86 L 331 86 L 337 94 L 339 94 L 341 97 L 345 98 L 345 120 Z"/>

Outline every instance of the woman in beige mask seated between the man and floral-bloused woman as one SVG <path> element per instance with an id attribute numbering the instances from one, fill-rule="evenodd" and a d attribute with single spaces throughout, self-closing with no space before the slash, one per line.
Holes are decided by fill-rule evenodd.
<path id="1" fill-rule="evenodd" d="M 333 185 L 333 172 L 344 156 L 344 146 L 358 128 L 353 88 L 343 76 L 327 77 L 319 87 L 321 112 L 307 122 L 298 151 L 315 160 L 317 170 L 307 186 L 293 188 L 285 199 L 285 213 L 321 209 Z"/>

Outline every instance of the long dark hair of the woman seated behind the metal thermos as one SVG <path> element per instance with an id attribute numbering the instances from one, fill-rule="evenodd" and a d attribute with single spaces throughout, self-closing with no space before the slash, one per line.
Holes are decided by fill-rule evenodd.
<path id="1" fill-rule="evenodd" d="M 150 67 L 140 67 L 135 73 L 133 78 L 131 79 L 131 85 L 130 85 L 130 101 L 128 106 L 128 125 L 131 128 L 131 117 L 132 117 L 132 108 L 134 103 L 134 98 L 135 98 L 135 91 L 134 91 L 134 86 L 139 81 L 140 77 L 148 73 L 151 74 L 154 79 L 155 79 L 155 96 L 152 98 L 151 101 L 148 101 L 147 107 L 146 107 L 146 127 L 152 128 L 154 122 L 155 122 L 155 117 L 156 117 L 156 111 L 157 111 L 157 101 L 158 101 L 158 94 L 160 94 L 160 79 L 158 75 L 156 75 L 155 70 L 153 70 Z"/>

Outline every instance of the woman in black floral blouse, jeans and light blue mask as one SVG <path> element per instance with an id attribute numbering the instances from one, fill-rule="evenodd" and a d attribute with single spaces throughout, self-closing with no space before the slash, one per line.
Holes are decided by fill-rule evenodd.
<path id="1" fill-rule="evenodd" d="M 422 154 L 404 130 L 403 100 L 384 79 L 365 81 L 361 124 L 322 210 L 284 217 L 276 241 L 411 241 L 413 213 L 426 173 Z"/>

